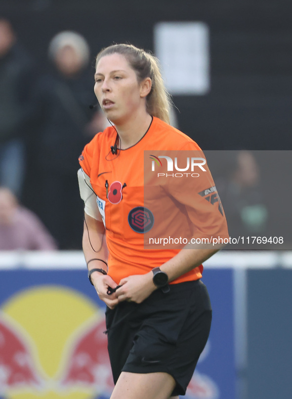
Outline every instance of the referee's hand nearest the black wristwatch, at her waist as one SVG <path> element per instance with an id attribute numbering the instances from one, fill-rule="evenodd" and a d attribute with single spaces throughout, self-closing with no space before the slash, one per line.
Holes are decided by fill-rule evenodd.
<path id="1" fill-rule="evenodd" d="M 147 274 L 128 276 L 120 281 L 115 294 L 119 302 L 128 301 L 141 303 L 157 289 L 153 283 L 152 271 Z"/>

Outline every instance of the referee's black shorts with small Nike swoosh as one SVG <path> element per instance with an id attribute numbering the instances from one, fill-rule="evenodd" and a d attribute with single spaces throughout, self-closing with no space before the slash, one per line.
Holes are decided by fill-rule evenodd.
<path id="1" fill-rule="evenodd" d="M 121 302 L 106 310 L 108 351 L 116 384 L 122 371 L 166 372 L 185 395 L 199 356 L 208 340 L 212 310 L 200 281 L 171 284 L 155 290 L 144 302 Z"/>

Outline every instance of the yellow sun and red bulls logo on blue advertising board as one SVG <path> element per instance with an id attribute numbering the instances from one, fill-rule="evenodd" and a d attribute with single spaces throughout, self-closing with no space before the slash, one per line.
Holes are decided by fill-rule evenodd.
<path id="1" fill-rule="evenodd" d="M 105 330 L 104 311 L 78 291 L 39 286 L 12 296 L 0 311 L 1 398 L 109 399 Z M 216 385 L 196 371 L 186 399 L 217 398 Z"/>

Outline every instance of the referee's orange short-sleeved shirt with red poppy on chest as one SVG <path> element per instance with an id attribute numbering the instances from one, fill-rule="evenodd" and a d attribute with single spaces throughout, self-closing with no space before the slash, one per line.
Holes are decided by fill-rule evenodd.
<path id="1" fill-rule="evenodd" d="M 186 230 L 185 236 L 190 233 L 196 237 L 211 237 L 213 234 L 228 236 L 219 197 L 213 204 L 208 199 L 209 191 L 213 196 L 216 196 L 216 192 L 206 165 L 207 171 L 201 174 L 202 179 L 188 180 L 195 195 L 185 195 L 179 188 L 179 179 L 169 184 L 167 179 L 172 179 L 170 172 L 169 177 L 162 176 L 156 183 L 156 189 L 150 189 L 151 181 L 145 186 L 144 155 L 147 154 L 147 165 L 151 171 L 153 158 L 150 159 L 148 153 L 201 151 L 191 138 L 156 117 L 153 117 L 148 131 L 137 144 L 125 150 L 118 149 L 117 154 L 112 154 L 111 146 L 116 138 L 116 130 L 113 127 L 106 128 L 84 147 L 79 161 L 97 195 L 97 204 L 106 228 L 108 274 L 117 284 L 129 275 L 148 273 L 181 250 L 173 248 L 173 245 L 164 249 L 146 246 L 145 235 L 150 238 L 152 231 L 159 234 L 164 232 L 167 237 L 169 232 L 174 234 L 175 230 L 180 233 Z M 148 176 L 153 175 L 146 172 L 147 180 Z M 175 213 L 179 215 L 176 218 L 178 224 L 173 223 Z M 202 271 L 201 265 L 170 284 L 200 279 Z"/>

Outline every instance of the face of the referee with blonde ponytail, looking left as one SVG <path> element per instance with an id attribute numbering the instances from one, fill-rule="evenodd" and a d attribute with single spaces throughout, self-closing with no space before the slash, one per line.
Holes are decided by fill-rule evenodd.
<path id="1" fill-rule="evenodd" d="M 123 55 L 105 55 L 98 61 L 94 93 L 106 117 L 114 123 L 124 124 L 140 109 L 145 110 L 145 97 L 149 91 L 145 91 L 144 86 L 145 82 L 138 82 L 135 71 Z"/>

